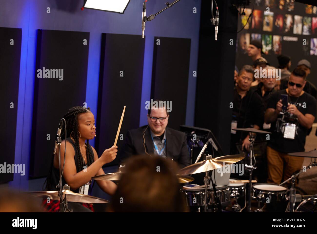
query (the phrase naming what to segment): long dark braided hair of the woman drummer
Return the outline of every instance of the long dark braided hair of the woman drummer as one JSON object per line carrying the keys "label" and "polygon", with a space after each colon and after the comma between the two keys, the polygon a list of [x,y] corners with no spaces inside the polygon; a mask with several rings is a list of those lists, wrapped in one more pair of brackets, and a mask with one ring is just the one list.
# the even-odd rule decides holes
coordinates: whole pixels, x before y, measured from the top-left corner
{"label": "long dark braided hair of the woman drummer", "polygon": [[[79,146],[79,132],[78,132],[78,114],[81,113],[86,113],[90,112],[90,108],[84,108],[82,106],[76,106],[72,107],[68,110],[68,112],[63,116],[63,118],[66,120],[66,127],[67,127],[67,136],[65,136],[65,127],[62,128],[61,131],[61,139],[64,140],[65,138],[68,138],[72,136],[74,139],[75,143],[75,155],[77,155],[77,160],[75,161],[76,164],[76,170],[77,172],[80,172],[84,169],[84,159],[81,156],[81,151],[80,151],[80,146]],[[72,134],[72,135],[71,135]],[[86,143],[86,157],[87,157],[87,166],[90,166],[94,162],[94,153],[91,150],[89,140],[87,139]],[[52,162],[51,164],[54,163],[54,154],[52,157]],[[49,189],[52,184],[51,184],[51,176],[52,176],[52,168],[53,166],[51,165],[49,174],[45,180],[46,186],[45,190]],[[45,185],[44,182],[44,185]],[[43,185],[43,187],[44,187]]]}

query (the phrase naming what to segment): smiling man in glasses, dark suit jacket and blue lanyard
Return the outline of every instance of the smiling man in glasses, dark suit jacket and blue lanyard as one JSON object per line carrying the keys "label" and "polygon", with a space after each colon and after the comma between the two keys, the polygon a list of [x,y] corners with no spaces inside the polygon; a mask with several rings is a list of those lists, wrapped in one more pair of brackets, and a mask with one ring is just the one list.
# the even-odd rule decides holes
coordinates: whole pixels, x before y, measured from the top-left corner
{"label": "smiling man in glasses, dark suit jacket and blue lanyard", "polygon": [[[169,112],[166,108],[150,109],[148,125],[129,130],[120,153],[120,162],[134,155],[160,156],[173,159],[181,168],[190,165],[186,135],[166,127]],[[121,164],[121,163],[120,163]]]}

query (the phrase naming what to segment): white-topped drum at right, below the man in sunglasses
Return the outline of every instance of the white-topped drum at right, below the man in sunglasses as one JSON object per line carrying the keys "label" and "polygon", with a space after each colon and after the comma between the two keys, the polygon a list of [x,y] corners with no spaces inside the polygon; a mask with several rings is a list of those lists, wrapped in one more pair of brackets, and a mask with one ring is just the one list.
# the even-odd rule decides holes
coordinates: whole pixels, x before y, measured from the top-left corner
{"label": "white-topped drum at right, below the man in sunglasses", "polygon": [[269,203],[285,201],[287,192],[287,188],[276,184],[262,183],[252,186],[252,197],[260,202],[266,202],[267,198]]}

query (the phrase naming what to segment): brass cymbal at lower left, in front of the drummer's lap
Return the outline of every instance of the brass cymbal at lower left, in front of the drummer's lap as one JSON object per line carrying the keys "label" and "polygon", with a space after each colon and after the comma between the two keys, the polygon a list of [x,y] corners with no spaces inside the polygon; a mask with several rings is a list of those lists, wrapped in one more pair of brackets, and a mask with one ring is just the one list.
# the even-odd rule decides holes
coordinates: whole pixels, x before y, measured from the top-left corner
{"label": "brass cymbal at lower left, in front of the drummer's lap", "polygon": [[[34,191],[34,192],[27,192],[32,197],[36,198],[50,198],[51,200],[59,200],[60,197],[57,191]],[[108,203],[108,200],[97,198],[90,195],[75,193],[70,190],[63,190],[63,199],[65,198],[69,202],[84,202],[84,203]]]}

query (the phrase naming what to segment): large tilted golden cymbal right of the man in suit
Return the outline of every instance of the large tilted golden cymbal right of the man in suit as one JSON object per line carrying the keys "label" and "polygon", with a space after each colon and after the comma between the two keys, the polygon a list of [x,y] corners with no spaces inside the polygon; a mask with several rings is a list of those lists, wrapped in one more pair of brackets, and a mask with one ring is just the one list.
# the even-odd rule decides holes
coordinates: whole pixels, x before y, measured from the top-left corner
{"label": "large tilted golden cymbal right of the man in suit", "polygon": [[178,174],[189,175],[189,174],[196,174],[200,172],[207,172],[207,171],[211,171],[211,170],[223,167],[223,163],[224,165],[234,164],[236,162],[241,161],[242,159],[244,159],[244,156],[241,156],[240,154],[226,155],[226,156],[221,156],[217,158],[211,158],[208,155],[206,160],[186,166],[183,169],[181,169],[178,172]]}

